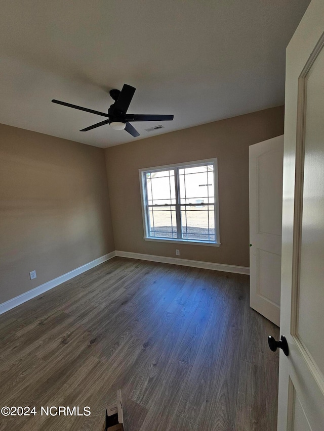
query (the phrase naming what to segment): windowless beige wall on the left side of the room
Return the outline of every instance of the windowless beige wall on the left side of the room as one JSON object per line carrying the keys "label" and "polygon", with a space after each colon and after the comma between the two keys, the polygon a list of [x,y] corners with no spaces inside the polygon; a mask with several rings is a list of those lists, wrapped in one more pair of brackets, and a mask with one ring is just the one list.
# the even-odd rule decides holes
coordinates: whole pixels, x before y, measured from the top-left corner
{"label": "windowless beige wall on the left side of the room", "polygon": [[103,149],[5,125],[0,139],[1,304],[115,247]]}

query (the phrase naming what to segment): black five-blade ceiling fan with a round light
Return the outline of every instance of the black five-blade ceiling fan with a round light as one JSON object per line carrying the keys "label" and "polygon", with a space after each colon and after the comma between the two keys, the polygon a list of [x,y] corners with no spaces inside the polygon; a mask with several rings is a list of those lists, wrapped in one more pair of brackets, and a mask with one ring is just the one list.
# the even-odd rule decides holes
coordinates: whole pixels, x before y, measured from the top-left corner
{"label": "black five-blade ceiling fan with a round light", "polygon": [[130,124],[130,121],[166,121],[173,120],[173,115],[154,115],[154,114],[126,114],[128,107],[133,99],[136,88],[131,85],[124,84],[120,90],[110,90],[109,94],[114,100],[114,103],[110,105],[108,114],[104,112],[94,111],[93,109],[83,108],[82,106],[72,105],[70,103],[61,102],[53,99],[53,103],[59,105],[68,106],[69,108],[79,109],[80,111],[90,112],[92,114],[101,115],[107,117],[107,120],[96,123],[93,126],[86,127],[80,130],[80,132],[87,132],[88,130],[95,129],[96,127],[109,124],[115,130],[125,129],[132,136],[140,136],[138,131]]}

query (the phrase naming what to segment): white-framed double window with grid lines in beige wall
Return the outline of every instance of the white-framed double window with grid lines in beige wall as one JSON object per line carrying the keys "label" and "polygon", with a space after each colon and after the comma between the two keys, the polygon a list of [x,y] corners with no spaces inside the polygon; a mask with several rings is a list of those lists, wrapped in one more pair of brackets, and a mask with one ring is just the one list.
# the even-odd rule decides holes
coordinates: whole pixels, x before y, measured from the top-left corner
{"label": "white-framed double window with grid lines in beige wall", "polygon": [[219,246],[217,159],[139,173],[145,240]]}

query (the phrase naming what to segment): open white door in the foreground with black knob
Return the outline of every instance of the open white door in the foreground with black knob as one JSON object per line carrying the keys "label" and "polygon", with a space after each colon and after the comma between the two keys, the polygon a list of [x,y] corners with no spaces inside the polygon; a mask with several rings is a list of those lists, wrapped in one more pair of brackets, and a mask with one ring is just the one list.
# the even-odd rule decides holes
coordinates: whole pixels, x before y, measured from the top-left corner
{"label": "open white door in the foreground with black knob", "polygon": [[324,429],[324,2],[287,48],[279,431]]}

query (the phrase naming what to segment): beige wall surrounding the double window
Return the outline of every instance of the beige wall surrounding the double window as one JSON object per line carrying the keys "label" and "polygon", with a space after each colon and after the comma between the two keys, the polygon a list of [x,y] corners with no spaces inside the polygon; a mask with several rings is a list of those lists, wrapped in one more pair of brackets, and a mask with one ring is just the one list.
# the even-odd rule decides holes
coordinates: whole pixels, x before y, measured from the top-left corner
{"label": "beige wall surrounding the double window", "polygon": [[[284,133],[284,107],[105,150],[116,250],[249,266],[249,146]],[[220,247],[143,240],[139,168],[218,158]]]}

